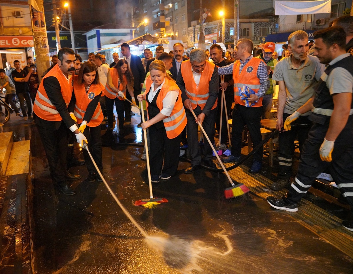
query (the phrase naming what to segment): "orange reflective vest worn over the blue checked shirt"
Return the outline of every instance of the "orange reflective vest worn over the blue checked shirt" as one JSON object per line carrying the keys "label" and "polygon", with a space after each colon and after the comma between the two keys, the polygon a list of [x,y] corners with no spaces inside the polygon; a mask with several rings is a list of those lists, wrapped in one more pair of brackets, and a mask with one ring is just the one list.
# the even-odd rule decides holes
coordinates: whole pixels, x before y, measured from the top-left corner
{"label": "orange reflective vest worn over the blue checked shirt", "polygon": [[[247,86],[251,88],[255,93],[261,87],[260,79],[257,77],[257,68],[259,64],[263,62],[261,59],[258,58],[251,58],[249,62],[246,63],[244,68],[241,70],[239,74],[240,62],[234,63],[233,67],[233,80],[234,80],[234,101],[236,104],[245,106],[245,102],[240,100],[239,96],[239,89],[243,88],[243,86]],[[259,98],[258,102],[253,105],[253,107],[261,107],[262,106],[262,97]]]}

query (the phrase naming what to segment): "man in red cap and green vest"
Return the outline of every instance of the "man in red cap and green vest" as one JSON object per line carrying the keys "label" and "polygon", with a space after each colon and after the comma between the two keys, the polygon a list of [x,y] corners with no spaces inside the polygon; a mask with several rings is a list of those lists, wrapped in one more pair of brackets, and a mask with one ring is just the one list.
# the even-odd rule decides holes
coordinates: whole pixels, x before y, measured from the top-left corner
{"label": "man in red cap and green vest", "polygon": [[273,53],[275,52],[275,44],[273,42],[267,42],[264,44],[262,53],[255,57],[259,58],[262,61],[265,62],[267,66],[267,73],[268,77],[270,79],[271,85],[268,91],[265,93],[265,95],[262,97],[262,106],[263,106],[263,111],[262,111],[262,119],[270,119],[272,118],[270,116],[271,114],[271,106],[272,106],[272,99],[273,99],[273,94],[274,91],[276,90],[276,81],[272,80],[272,74],[273,74],[273,69],[277,64],[277,60],[272,58]]}

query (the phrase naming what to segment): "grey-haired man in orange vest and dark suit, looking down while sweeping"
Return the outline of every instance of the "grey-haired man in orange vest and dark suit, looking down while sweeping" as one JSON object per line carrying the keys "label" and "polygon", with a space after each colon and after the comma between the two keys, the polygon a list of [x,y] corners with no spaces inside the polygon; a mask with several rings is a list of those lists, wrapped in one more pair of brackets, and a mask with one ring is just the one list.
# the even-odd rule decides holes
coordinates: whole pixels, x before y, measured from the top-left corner
{"label": "grey-haired man in orange vest and dark suit, looking down while sweeping", "polygon": [[[215,135],[219,92],[218,68],[206,59],[204,50],[193,49],[190,52],[190,60],[181,63],[177,77],[177,85],[181,90],[181,99],[186,111],[187,144],[191,156],[191,167],[184,170],[185,174],[193,173],[201,165],[197,123],[202,124],[211,142]],[[191,110],[195,112],[196,120]],[[212,148],[208,142],[204,142],[203,156],[205,166],[216,168],[211,160]]]}

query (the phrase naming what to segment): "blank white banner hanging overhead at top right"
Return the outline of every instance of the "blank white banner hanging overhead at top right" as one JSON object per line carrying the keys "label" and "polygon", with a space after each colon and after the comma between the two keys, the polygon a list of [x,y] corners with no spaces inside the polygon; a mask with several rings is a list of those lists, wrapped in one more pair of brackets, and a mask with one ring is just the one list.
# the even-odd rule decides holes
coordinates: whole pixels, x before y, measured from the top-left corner
{"label": "blank white banner hanging overhead at top right", "polygon": [[331,12],[331,0],[274,1],[275,15],[296,15]]}

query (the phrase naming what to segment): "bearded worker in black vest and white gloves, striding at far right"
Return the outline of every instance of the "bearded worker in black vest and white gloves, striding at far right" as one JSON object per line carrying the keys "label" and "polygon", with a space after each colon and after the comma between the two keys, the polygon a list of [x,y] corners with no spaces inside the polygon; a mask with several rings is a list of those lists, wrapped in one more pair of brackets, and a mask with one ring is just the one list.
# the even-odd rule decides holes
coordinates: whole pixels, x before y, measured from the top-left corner
{"label": "bearded worker in black vest and white gloves, striding at far right", "polygon": [[[299,115],[312,110],[309,119],[313,124],[289,192],[285,197],[269,196],[267,201],[279,210],[298,211],[297,204],[316,176],[329,168],[353,210],[353,56],[346,53],[345,32],[341,27],[316,31],[314,39],[314,55],[328,66],[315,88],[315,96],[297,110]],[[297,117],[289,116],[285,129],[290,130]],[[342,226],[353,231],[353,219],[343,221]]]}

